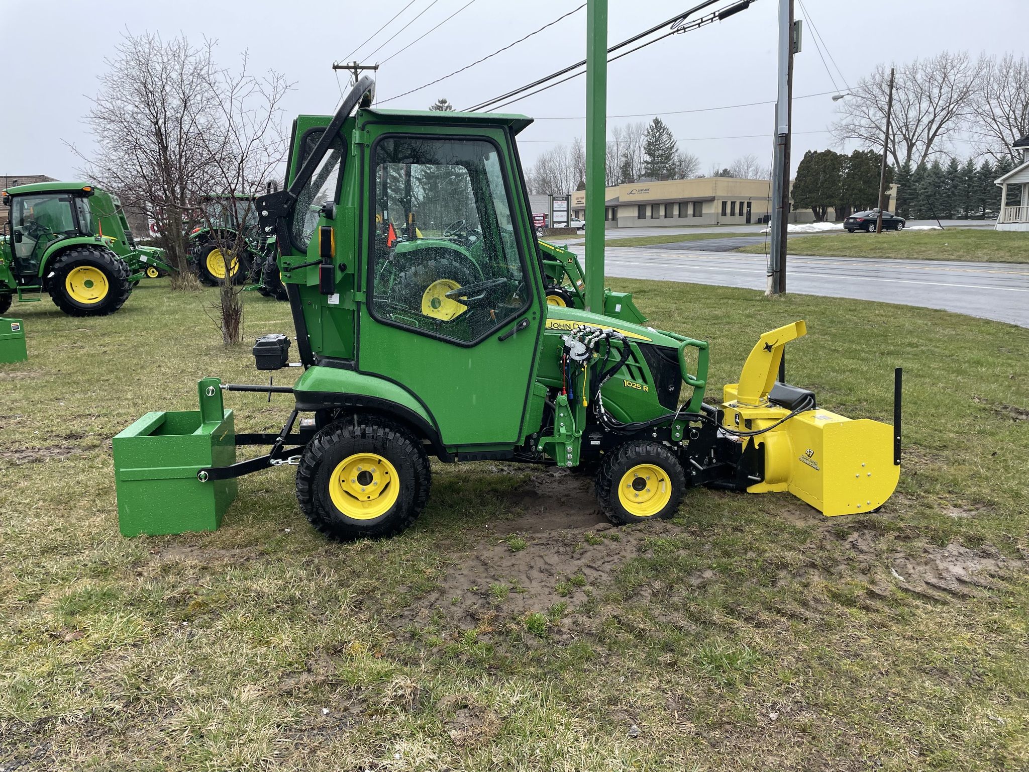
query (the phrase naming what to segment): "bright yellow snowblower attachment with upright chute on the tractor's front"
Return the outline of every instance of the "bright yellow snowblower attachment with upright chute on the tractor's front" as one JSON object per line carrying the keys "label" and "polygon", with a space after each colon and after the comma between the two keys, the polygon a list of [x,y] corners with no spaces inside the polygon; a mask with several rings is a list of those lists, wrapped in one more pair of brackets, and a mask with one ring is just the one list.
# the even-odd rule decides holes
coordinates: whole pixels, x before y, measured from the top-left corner
{"label": "bright yellow snowblower attachment with upright chute on the tractor's front", "polygon": [[893,426],[822,410],[813,392],[775,380],[783,348],[806,334],[796,321],[760,337],[740,382],[725,386],[722,425],[762,463],[764,481],[748,492],[789,491],[823,515],[872,512],[900,478],[900,372]]}

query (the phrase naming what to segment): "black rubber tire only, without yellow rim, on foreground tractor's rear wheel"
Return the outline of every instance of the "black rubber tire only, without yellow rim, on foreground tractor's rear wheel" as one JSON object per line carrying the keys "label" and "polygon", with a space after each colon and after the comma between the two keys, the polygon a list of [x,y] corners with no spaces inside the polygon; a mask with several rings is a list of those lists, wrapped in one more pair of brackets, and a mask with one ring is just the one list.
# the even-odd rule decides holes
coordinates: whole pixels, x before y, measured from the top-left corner
{"label": "black rubber tire only, without yellow rim, on foreground tractor's rear wheel", "polygon": [[[363,450],[369,451],[389,448],[407,458],[414,469],[415,484],[413,495],[402,511],[360,529],[333,520],[326,512],[316,489],[318,469],[326,452],[345,443],[365,445]],[[296,468],[296,500],[311,524],[329,538],[340,541],[378,538],[399,533],[415,522],[428,501],[431,482],[429,457],[421,442],[406,427],[382,416],[352,415],[323,428],[305,448]],[[404,502],[398,500],[397,503]]]}

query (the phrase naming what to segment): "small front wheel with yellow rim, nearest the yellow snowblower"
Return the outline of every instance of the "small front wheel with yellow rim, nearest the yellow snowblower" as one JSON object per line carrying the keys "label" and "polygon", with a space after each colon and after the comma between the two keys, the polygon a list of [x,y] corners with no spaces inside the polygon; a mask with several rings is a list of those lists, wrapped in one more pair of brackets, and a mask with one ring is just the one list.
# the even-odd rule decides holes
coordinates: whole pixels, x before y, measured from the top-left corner
{"label": "small front wheel with yellow rim, nearest the yellow snowblower", "polygon": [[675,515],[686,489],[679,459],[661,443],[633,441],[604,456],[597,498],[614,525]]}

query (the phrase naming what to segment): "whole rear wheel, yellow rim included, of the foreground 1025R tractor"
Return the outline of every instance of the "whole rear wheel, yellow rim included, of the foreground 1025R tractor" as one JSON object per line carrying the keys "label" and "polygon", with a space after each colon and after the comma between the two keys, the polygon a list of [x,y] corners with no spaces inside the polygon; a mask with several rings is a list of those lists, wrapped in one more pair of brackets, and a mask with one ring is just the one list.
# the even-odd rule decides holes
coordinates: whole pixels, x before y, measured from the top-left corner
{"label": "whole rear wheel, yellow rim included, of the foreground 1025R tractor", "polygon": [[296,500],[319,531],[340,541],[391,536],[429,498],[421,442],[378,416],[348,416],[319,431],[296,469]]}

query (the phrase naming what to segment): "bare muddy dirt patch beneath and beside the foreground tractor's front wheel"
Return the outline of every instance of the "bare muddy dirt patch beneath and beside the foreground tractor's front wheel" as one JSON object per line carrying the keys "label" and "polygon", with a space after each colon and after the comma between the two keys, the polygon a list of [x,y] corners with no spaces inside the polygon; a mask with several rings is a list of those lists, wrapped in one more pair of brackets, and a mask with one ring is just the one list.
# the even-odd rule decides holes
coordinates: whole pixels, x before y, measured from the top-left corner
{"label": "bare muddy dirt patch beneath and beside the foreground tractor's front wheel", "polygon": [[510,500],[522,512],[487,526],[439,589],[394,618],[396,627],[421,627],[441,613],[451,626],[489,632],[495,622],[557,603],[574,610],[647,538],[682,530],[660,520],[612,526],[595,503],[593,478],[566,471],[534,475]]}

